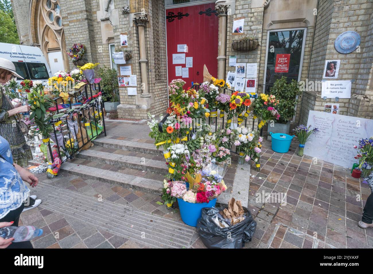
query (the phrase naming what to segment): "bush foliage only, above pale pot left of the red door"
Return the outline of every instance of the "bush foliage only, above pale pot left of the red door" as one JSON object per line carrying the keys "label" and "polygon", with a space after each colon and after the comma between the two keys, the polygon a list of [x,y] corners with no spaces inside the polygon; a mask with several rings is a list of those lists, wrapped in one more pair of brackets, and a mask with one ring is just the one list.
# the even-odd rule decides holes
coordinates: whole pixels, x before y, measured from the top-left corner
{"label": "bush foliage only, above pale pot left of the red door", "polygon": [[101,78],[101,90],[104,102],[117,102],[116,90],[119,89],[117,71],[104,66],[98,69],[98,76]]}

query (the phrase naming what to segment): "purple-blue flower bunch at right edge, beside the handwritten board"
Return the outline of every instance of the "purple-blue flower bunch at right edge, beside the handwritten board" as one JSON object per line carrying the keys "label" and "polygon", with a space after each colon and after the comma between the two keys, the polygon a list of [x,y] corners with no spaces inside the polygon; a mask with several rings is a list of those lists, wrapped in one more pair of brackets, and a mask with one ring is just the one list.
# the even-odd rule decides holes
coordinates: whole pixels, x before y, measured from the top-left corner
{"label": "purple-blue flower bunch at right edge, beside the handwritten board", "polygon": [[373,137],[359,140],[358,146],[355,145],[354,149],[358,149],[359,151],[354,158],[359,159],[358,169],[361,170],[361,177],[366,178],[372,172]]}

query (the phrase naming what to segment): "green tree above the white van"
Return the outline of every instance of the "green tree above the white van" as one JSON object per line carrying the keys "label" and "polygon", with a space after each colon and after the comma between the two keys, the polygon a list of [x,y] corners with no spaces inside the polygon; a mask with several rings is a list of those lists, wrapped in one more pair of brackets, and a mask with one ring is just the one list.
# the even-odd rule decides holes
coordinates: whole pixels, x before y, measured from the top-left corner
{"label": "green tree above the white van", "polygon": [[9,0],[0,0],[0,42],[19,44],[16,22]]}

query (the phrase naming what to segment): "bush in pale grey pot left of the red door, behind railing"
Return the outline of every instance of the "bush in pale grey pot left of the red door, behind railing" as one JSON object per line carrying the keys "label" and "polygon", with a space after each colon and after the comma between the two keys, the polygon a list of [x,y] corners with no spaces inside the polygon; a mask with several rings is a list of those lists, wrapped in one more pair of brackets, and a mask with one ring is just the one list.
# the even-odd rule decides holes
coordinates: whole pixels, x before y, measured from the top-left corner
{"label": "bush in pale grey pot left of the red door, behind railing", "polygon": [[120,104],[117,96],[118,73],[115,69],[102,67],[98,70],[98,75],[101,78],[102,98],[106,112],[116,111],[117,106]]}

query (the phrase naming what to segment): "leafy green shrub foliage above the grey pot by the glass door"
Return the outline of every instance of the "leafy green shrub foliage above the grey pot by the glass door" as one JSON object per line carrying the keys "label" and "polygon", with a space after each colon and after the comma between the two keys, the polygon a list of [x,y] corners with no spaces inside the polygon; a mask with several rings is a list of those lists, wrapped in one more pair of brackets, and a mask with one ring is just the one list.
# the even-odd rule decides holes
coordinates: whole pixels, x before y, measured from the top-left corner
{"label": "leafy green shrub foliage above the grey pot by the glass door", "polygon": [[294,79],[290,83],[287,78],[282,76],[277,79],[270,89],[270,94],[275,95],[279,100],[276,110],[280,114],[278,120],[281,124],[286,124],[295,114],[295,106],[297,105],[297,96],[301,95],[300,84]]}

